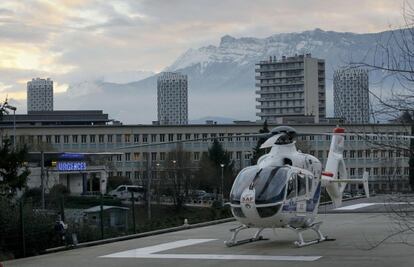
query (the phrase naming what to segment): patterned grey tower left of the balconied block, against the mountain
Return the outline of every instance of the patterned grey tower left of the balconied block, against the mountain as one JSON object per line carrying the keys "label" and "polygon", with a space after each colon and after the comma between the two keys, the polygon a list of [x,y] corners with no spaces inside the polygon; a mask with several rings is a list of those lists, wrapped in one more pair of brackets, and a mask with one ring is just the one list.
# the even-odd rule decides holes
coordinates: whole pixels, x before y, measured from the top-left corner
{"label": "patterned grey tower left of the balconied block, against the mountain", "polygon": [[188,124],[187,75],[163,72],[157,80],[158,123]]}

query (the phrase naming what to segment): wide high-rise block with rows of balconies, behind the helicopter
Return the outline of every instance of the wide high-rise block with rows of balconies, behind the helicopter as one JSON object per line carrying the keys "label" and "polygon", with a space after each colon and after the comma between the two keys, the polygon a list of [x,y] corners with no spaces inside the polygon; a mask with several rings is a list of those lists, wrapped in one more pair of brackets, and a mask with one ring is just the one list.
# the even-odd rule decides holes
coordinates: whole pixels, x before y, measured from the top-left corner
{"label": "wide high-rise block with rows of balconies, behind the helicopter", "polygon": [[310,54],[270,57],[256,64],[256,115],[261,121],[285,123],[325,118],[325,61]]}

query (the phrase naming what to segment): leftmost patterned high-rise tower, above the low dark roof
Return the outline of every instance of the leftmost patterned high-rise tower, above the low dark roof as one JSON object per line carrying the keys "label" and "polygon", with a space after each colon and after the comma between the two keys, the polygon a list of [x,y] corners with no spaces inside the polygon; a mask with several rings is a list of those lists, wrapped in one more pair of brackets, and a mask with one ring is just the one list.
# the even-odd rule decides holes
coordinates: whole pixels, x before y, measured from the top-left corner
{"label": "leftmost patterned high-rise tower, above the low dark roof", "polygon": [[53,110],[53,81],[47,79],[32,79],[27,82],[27,111]]}

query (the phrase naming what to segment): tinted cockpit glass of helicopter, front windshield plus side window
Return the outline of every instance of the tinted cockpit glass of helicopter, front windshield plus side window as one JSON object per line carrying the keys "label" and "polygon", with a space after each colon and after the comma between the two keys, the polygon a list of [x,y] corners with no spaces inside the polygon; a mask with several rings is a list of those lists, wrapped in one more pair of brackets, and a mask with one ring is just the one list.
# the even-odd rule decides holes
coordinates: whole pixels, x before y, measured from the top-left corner
{"label": "tinted cockpit glass of helicopter, front windshield plus side window", "polygon": [[283,201],[285,186],[290,167],[247,168],[240,172],[234,181],[230,201],[240,204],[243,191],[253,186],[256,192],[256,204],[268,204]]}

